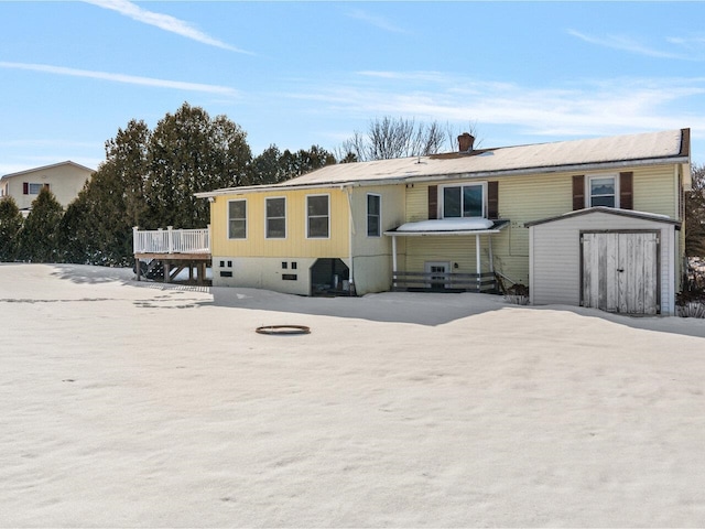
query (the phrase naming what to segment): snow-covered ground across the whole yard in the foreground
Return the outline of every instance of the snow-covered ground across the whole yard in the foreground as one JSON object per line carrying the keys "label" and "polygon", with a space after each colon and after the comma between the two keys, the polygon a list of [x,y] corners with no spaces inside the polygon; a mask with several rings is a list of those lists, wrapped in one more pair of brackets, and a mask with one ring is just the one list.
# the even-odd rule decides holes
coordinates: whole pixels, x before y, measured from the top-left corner
{"label": "snow-covered ground across the whole yard in the foreground", "polygon": [[0,264],[0,326],[1,527],[705,525],[703,320]]}

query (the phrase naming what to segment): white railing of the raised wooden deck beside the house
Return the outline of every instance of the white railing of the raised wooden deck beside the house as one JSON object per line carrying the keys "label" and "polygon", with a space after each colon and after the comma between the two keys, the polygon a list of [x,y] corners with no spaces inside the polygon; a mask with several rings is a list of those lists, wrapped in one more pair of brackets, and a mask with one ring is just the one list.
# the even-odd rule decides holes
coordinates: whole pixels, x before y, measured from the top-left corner
{"label": "white railing of the raised wooden deck beside the house", "polygon": [[210,253],[210,226],[206,229],[140,230],[132,228],[134,253]]}

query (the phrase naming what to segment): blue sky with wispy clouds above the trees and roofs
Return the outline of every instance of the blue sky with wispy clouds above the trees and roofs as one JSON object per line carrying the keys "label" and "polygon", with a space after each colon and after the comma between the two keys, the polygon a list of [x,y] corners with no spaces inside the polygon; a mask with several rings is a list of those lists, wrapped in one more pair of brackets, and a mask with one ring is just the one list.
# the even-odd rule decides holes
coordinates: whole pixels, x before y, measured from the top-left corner
{"label": "blue sky with wispy clouds above the trees and roofs", "polygon": [[705,3],[0,0],[0,174],[97,168],[184,101],[253,154],[334,150],[370,120],[481,147],[690,127],[705,162]]}

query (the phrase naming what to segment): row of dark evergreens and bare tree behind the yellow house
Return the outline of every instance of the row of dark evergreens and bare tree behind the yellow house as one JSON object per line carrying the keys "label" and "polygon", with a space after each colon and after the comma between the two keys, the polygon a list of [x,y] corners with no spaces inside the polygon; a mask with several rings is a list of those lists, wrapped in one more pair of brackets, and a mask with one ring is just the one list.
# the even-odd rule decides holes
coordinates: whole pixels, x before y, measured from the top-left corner
{"label": "row of dark evergreens and bare tree behind the yellow house", "polygon": [[332,163],[432,154],[443,141],[433,123],[383,118],[356,132],[338,156],[318,145],[283,152],[274,144],[252,156],[246,132],[225,116],[185,102],[153,130],[131,120],[105,144],[106,160],[64,210],[42,190],[23,218],[0,201],[0,261],[129,266],[132,227],[202,228],[209,206],[194,193],[273,184]]}

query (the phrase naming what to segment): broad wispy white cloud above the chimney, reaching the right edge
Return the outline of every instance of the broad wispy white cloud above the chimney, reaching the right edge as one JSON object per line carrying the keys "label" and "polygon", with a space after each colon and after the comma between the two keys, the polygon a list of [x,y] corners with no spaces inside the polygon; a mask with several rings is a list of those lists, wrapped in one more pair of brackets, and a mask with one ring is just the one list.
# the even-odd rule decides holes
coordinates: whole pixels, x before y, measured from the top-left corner
{"label": "broad wispy white cloud above the chimney, reaching the right edge", "polygon": [[[384,72],[372,76],[365,72],[364,82],[345,79],[306,86],[289,97],[318,101],[319,111],[349,119],[391,115],[459,125],[476,122],[480,130],[482,126],[500,126],[524,136],[610,136],[683,127],[705,131],[705,114],[690,104],[705,95],[705,78],[585,79],[540,89],[438,75],[434,86],[410,91],[404,79],[417,75]],[[370,77],[380,82],[370,85]]]}

